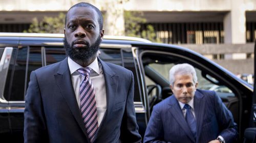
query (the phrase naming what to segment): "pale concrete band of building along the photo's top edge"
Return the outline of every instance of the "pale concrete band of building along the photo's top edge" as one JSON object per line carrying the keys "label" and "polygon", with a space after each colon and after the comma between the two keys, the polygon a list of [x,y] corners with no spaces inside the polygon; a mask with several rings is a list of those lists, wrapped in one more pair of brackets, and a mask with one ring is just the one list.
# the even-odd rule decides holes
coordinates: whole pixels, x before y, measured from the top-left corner
{"label": "pale concrete band of building along the photo's top edge", "polygon": [[[122,2],[125,10],[132,11],[229,11],[234,0],[106,0]],[[235,0],[237,1],[237,0]],[[239,0],[241,7],[256,10],[254,0]],[[104,10],[102,0],[0,0],[0,11],[67,11],[72,5],[88,2]]]}

